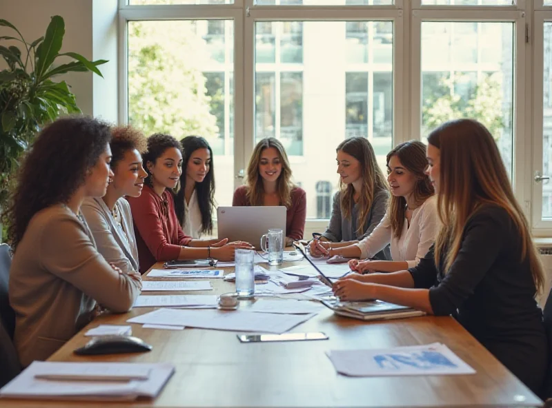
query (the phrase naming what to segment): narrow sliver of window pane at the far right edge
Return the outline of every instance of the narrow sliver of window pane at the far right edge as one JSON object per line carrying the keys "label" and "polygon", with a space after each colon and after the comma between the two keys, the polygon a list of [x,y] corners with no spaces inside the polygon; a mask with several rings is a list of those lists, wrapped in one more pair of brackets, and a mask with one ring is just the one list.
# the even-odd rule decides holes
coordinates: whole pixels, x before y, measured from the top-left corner
{"label": "narrow sliver of window pane at the far right edge", "polygon": [[[551,176],[552,169],[552,21],[544,22],[544,81],[542,83],[542,174]],[[552,218],[552,183],[542,181],[542,218]]]}

